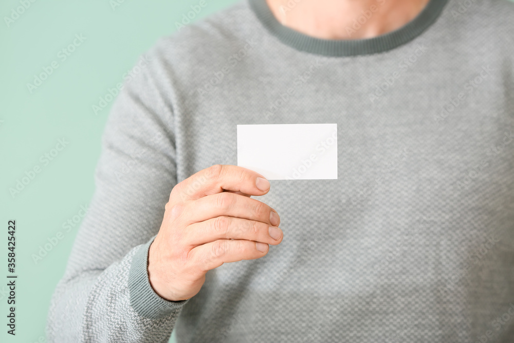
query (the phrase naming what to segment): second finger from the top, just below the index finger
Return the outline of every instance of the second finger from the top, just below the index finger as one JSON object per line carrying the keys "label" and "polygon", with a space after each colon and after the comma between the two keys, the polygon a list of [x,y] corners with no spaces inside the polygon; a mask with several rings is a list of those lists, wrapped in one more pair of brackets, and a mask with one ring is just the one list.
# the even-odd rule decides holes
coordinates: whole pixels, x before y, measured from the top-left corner
{"label": "second finger from the top, just below the index finger", "polygon": [[239,194],[223,192],[204,196],[196,201],[186,203],[188,212],[186,225],[216,218],[221,215],[254,220],[272,226],[279,226],[277,211],[265,203]]}

